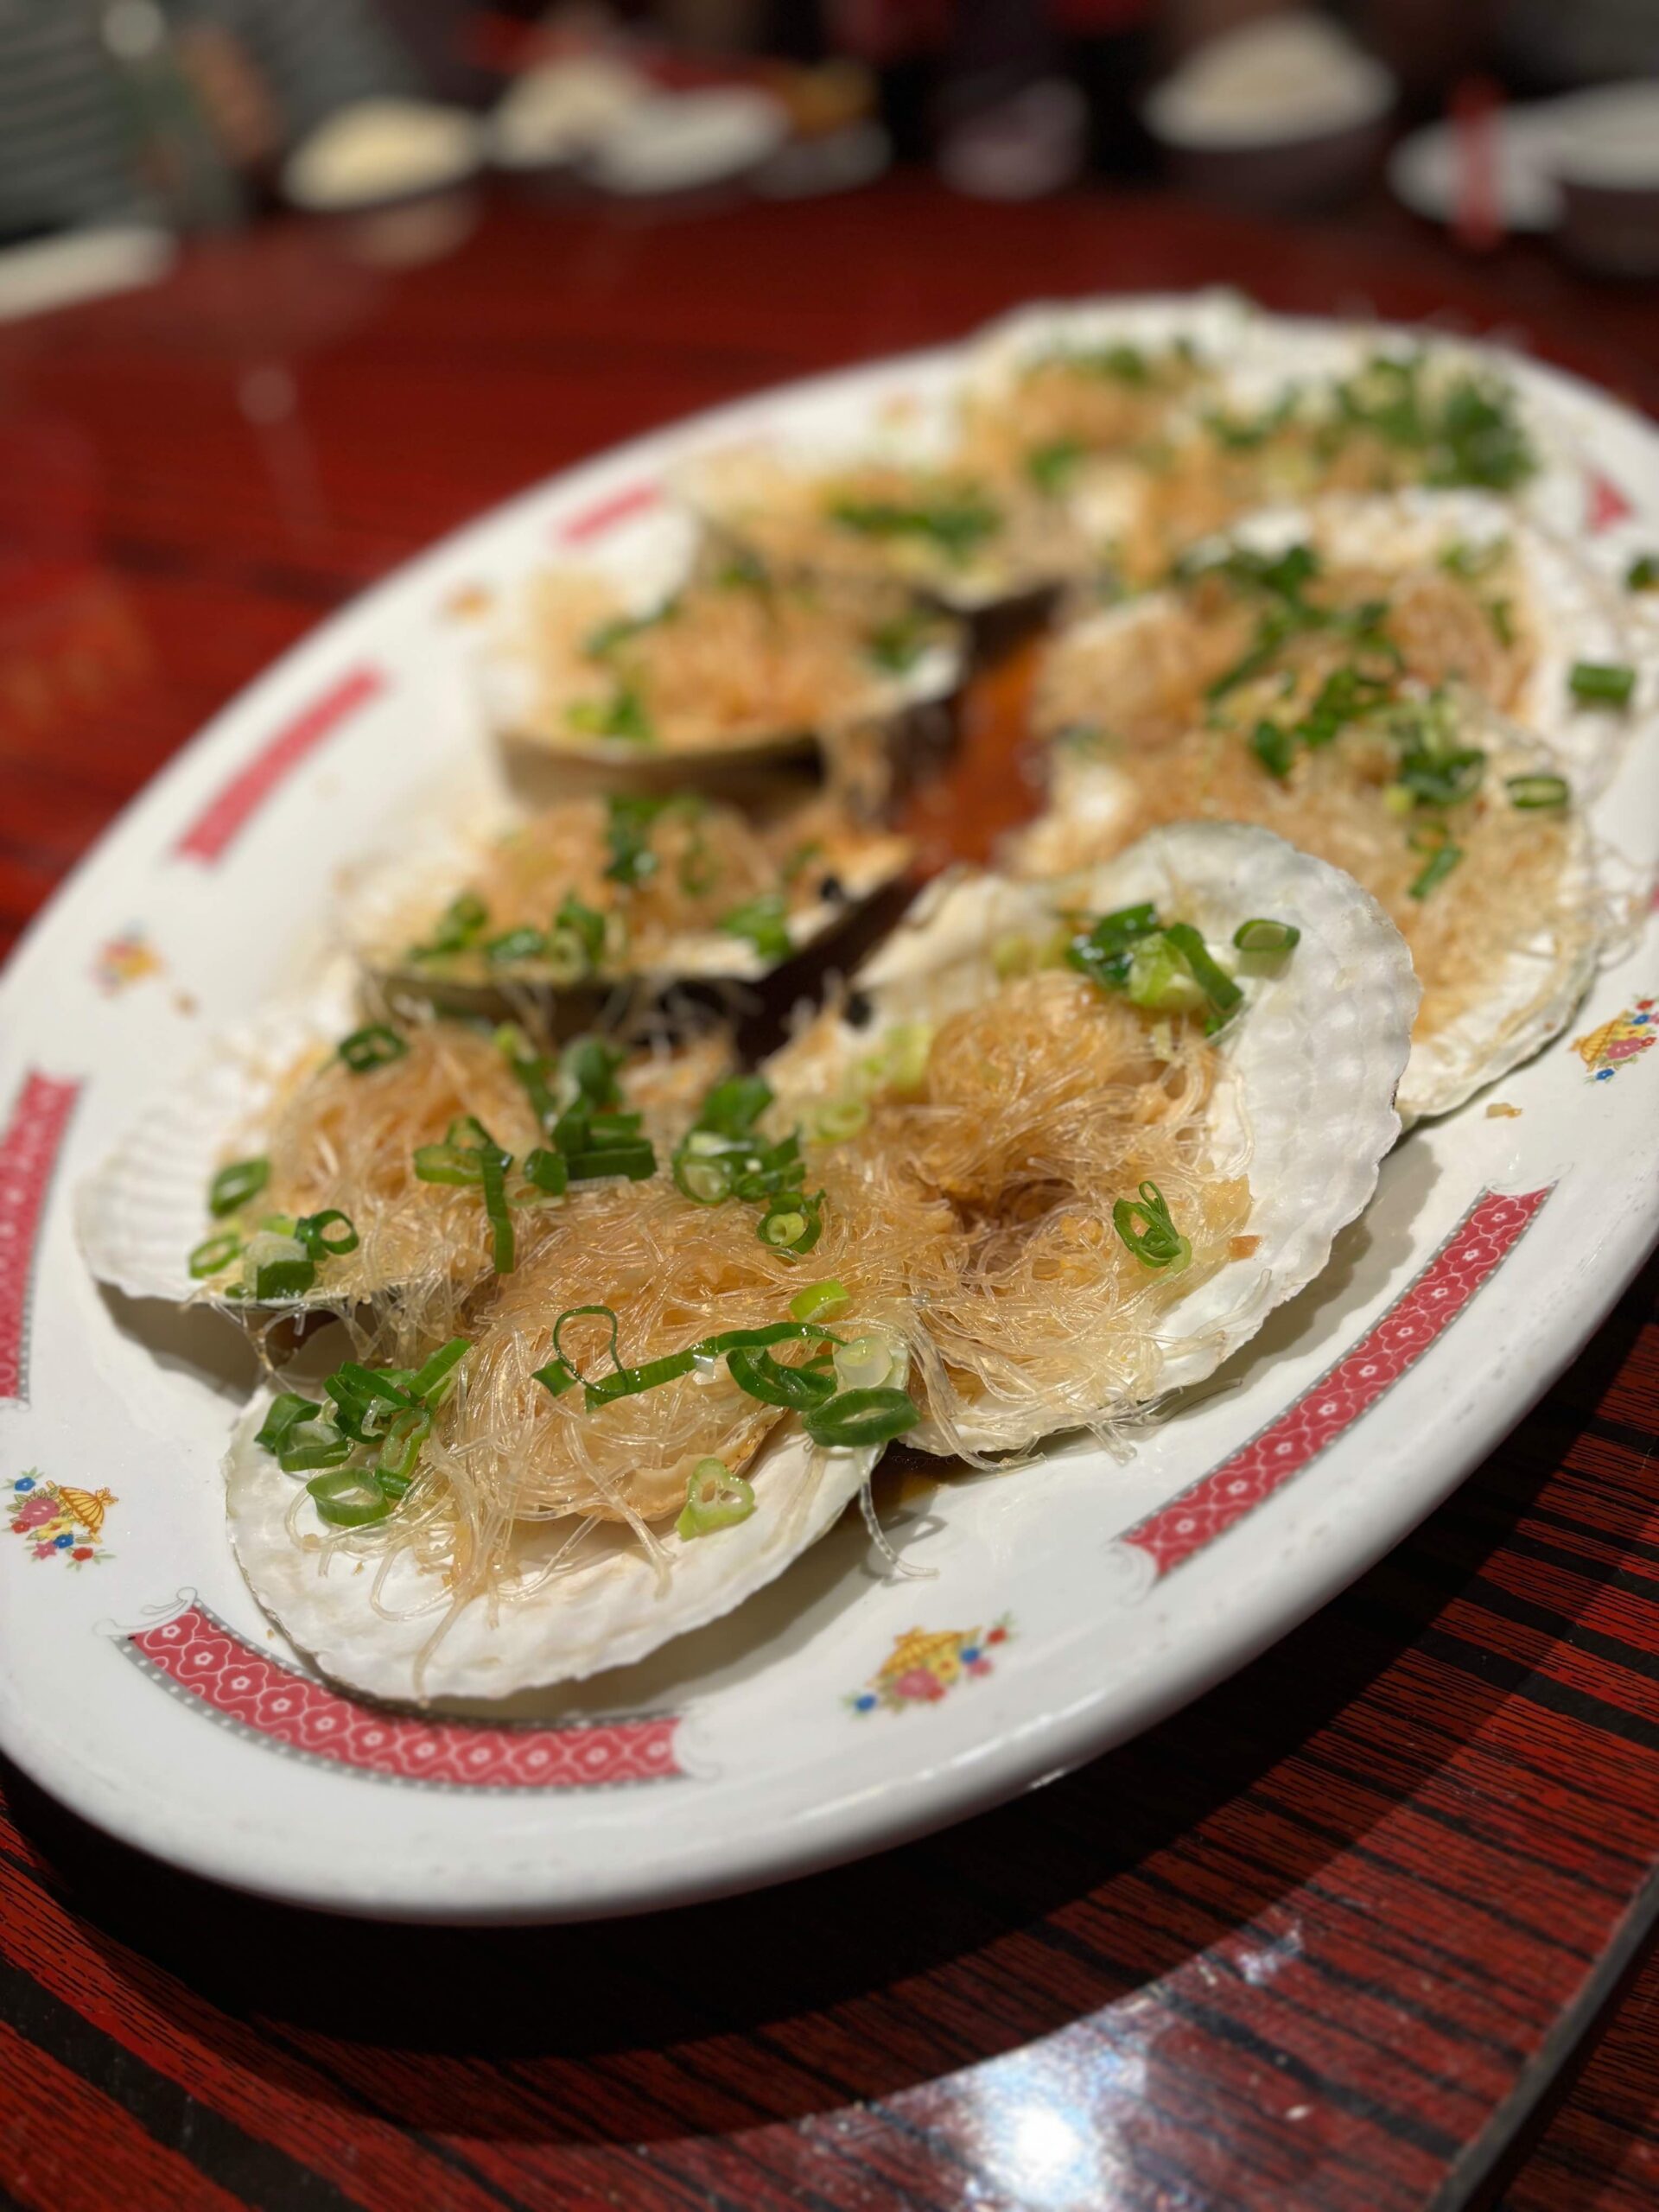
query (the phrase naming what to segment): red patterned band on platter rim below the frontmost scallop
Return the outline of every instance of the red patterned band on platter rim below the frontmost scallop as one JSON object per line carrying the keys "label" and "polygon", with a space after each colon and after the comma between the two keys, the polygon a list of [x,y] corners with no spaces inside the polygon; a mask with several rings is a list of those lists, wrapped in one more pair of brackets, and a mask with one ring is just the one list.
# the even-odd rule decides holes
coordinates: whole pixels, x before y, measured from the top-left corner
{"label": "red patterned band on platter rim below the frontmost scallop", "polygon": [[684,1776],[677,1712],[562,1728],[431,1721],[365,1705],[301,1674],[228,1628],[192,1599],[122,1650],[175,1697],[221,1728],[307,1765],[345,1767],[383,1783],[427,1790],[595,1790]]}

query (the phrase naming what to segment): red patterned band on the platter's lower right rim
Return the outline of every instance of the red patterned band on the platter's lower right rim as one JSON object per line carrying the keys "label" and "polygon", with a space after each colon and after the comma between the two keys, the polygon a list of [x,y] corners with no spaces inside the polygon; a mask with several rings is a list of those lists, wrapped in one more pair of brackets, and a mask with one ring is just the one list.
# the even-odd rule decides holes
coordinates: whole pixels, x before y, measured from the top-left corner
{"label": "red patterned band on the platter's lower right rim", "polygon": [[1119,1537],[1144,1551],[1155,1575],[1201,1553],[1234,1522],[1283,1489],[1310,1460],[1352,1429],[1469,1305],[1509,1259],[1555,1186],[1504,1197],[1484,1190],[1429,1265],[1387,1314],[1283,1413],[1221,1467]]}

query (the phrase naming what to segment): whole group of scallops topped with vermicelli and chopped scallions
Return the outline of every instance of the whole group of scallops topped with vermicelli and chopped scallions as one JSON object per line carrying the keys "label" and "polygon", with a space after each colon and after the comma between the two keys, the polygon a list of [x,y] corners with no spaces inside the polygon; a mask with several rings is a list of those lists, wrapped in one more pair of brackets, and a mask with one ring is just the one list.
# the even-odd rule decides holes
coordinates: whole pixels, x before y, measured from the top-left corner
{"label": "whole group of scallops topped with vermicelli and chopped scallions", "polygon": [[1590,807],[1659,560],[1562,526],[1571,438],[1489,356],[1208,296],[898,374],[526,564],[473,781],[363,825],[325,953],[80,1190],[102,1283],[254,1345],[230,1544],[363,1694],[695,1677],[849,1506],[925,1573],[889,1447],[1082,1473],[1093,1571],[1148,1427],[1146,1486],[1212,1464],[1194,1387],[1343,1290],[1402,1128],[1630,909]]}

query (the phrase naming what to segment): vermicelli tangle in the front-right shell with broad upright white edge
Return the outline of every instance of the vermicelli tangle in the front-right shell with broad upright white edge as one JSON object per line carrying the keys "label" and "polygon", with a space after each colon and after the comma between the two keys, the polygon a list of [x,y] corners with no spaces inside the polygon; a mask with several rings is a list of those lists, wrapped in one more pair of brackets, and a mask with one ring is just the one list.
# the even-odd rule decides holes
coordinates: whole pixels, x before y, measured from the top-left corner
{"label": "vermicelli tangle in the front-right shell with broad upright white edge", "polygon": [[[799,1066],[812,1066],[812,1035]],[[1230,1256],[1250,1190],[1219,1161],[1214,1048],[1071,973],[1004,982],[933,1035],[911,1093],[876,1093],[849,1141],[812,1150],[832,1217],[856,1223],[838,1274],[900,1325],[945,1438],[1024,1444],[1108,1427],[1157,1389],[1179,1298]],[[1146,1270],[1113,1203],[1157,1183],[1192,1241]]]}

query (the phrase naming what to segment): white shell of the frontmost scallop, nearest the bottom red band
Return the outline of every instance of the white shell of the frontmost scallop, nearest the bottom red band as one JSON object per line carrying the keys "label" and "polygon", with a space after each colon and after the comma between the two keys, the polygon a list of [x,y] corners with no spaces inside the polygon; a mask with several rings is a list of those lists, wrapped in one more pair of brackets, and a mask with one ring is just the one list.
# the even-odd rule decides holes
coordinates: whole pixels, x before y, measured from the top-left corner
{"label": "white shell of the frontmost scallop, nearest the bottom red band", "polygon": [[[299,1478],[254,1444],[268,1405],[270,1394],[261,1391],[237,1422],[226,1458],[230,1542],[241,1571],[265,1613],[325,1674],[398,1701],[509,1697],[644,1659],[781,1575],[836,1522],[880,1458],[880,1449],[818,1451],[787,1418],[750,1469],[748,1520],[692,1540],[672,1528],[659,1533],[666,1579],[630,1531],[593,1528],[557,1579],[535,1595],[498,1606],[493,1617],[487,1597],[465,1606],[420,1668],[447,1606],[442,1577],[398,1559],[380,1601],[407,1617],[387,1619],[369,1604],[376,1562],[327,1555],[316,1542],[327,1531],[310,1504],[296,1515],[296,1542],[288,1513]],[[571,1522],[522,1524],[515,1566],[535,1573],[568,1535]]]}

